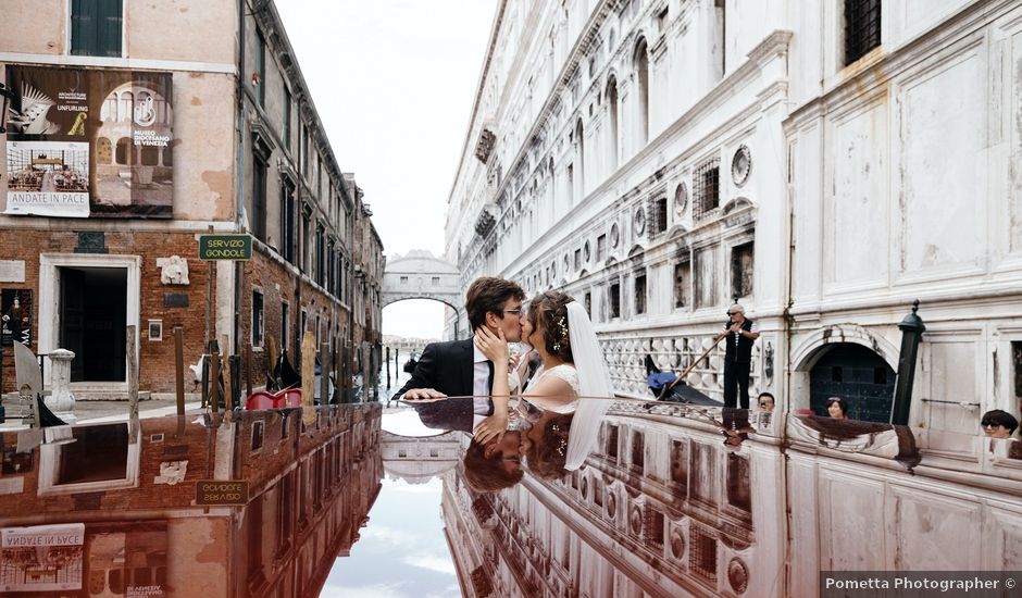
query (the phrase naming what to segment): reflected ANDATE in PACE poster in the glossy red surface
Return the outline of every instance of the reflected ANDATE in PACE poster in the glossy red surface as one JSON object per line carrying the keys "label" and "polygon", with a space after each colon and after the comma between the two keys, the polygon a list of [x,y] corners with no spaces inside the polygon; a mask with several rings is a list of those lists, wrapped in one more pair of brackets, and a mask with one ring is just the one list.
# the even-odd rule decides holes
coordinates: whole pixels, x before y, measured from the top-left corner
{"label": "reflected ANDATE in PACE poster in the glossy red surface", "polygon": [[85,524],[0,530],[0,593],[82,589]]}

